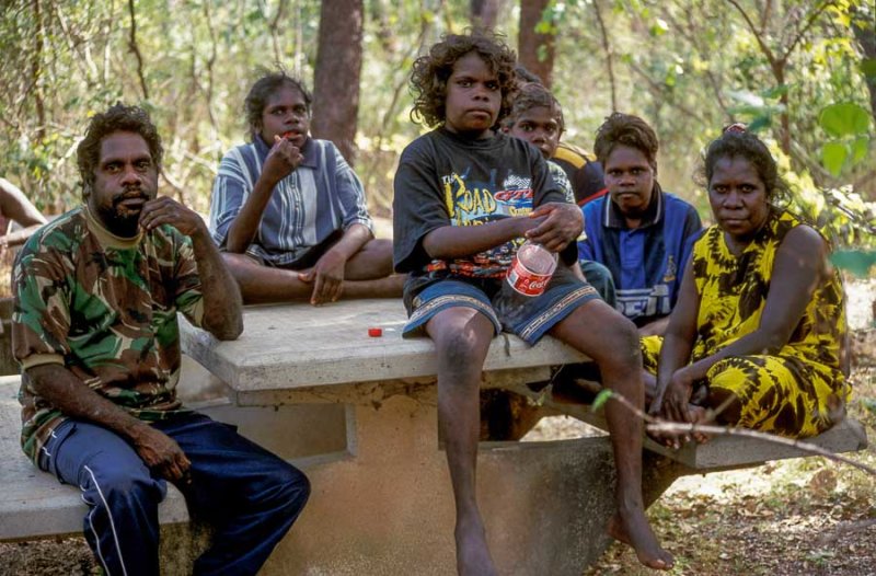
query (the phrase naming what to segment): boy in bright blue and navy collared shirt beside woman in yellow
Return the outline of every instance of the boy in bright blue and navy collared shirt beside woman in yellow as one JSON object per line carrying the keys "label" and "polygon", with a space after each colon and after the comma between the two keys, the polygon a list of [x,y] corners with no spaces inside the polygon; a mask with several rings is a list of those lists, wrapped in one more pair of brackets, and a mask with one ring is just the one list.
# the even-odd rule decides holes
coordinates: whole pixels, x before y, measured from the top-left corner
{"label": "boy in bright blue and navy collared shirt beside woman in yellow", "polygon": [[657,183],[657,135],[645,120],[614,113],[597,131],[609,194],[587,204],[578,257],[611,270],[615,308],[639,333],[662,335],[693,240],[696,209]]}

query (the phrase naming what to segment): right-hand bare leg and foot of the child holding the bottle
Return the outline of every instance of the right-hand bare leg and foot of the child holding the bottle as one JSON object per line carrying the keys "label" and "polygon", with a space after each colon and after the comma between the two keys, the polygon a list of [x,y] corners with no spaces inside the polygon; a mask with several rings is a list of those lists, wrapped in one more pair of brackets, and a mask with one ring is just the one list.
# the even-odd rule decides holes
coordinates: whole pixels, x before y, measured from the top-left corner
{"label": "right-hand bare leg and foot of the child holding the bottle", "polygon": [[[551,334],[596,360],[603,385],[643,408],[642,357],[632,322],[601,300],[590,300],[554,326]],[[618,470],[618,511],[609,522],[609,534],[633,546],[642,564],[671,568],[672,555],[657,541],[642,499],[643,423],[613,401],[606,405],[606,417]]]}

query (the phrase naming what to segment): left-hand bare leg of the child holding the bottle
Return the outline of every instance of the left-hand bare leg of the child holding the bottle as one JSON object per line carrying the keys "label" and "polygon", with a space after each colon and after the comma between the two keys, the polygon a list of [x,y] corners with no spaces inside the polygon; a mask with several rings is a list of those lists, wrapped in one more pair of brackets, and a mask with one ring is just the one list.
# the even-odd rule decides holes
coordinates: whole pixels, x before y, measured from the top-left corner
{"label": "left-hand bare leg of the child holding the bottle", "polygon": [[493,324],[471,308],[450,308],[426,324],[438,359],[438,425],[457,508],[457,572],[493,576],[496,568],[477,508],[475,469],[481,433],[481,372]]}

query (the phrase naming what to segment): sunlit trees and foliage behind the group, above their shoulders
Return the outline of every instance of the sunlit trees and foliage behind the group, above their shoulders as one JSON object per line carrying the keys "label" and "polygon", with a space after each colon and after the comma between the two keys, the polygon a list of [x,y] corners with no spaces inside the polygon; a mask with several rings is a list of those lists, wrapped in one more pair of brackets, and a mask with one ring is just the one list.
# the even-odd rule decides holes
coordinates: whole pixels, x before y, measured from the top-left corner
{"label": "sunlit trees and foliage behind the group, above their shoulders", "polygon": [[[874,243],[876,8],[869,0],[5,0],[0,175],[47,214],[80,200],[90,115],[146,106],[162,192],[206,212],[222,154],[247,137],[260,70],[313,88],[312,134],[335,141],[390,217],[411,122],[411,64],[440,36],[495,27],[564,107],[585,149],[612,111],[660,137],[659,180],[708,218],[702,147],[749,123],[782,158],[798,208],[840,246]],[[324,25],[321,25],[324,24]]]}

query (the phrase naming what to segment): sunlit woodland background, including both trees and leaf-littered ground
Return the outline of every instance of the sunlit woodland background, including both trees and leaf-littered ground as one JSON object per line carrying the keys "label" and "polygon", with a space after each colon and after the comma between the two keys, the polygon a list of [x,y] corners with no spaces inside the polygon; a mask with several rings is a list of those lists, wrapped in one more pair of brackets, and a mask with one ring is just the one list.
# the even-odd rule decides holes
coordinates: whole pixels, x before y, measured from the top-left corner
{"label": "sunlit woodland background, including both trees and leaf-littered ground", "polygon": [[[88,118],[120,100],[159,125],[161,192],[206,212],[219,160],[246,139],[250,85],[283,68],[313,88],[312,134],[337,143],[390,218],[399,154],[426,130],[410,117],[411,65],[473,24],[503,32],[552,88],[566,141],[590,149],[612,111],[643,116],[664,188],[708,220],[698,158],[723,126],[748,123],[842,265],[863,275],[876,260],[874,0],[0,0],[0,176],[46,214],[74,207]],[[873,440],[876,280],[851,296],[850,414]],[[820,458],[736,474],[679,483],[649,510],[673,574],[873,574],[876,479]],[[97,573],[81,538],[0,556],[3,575]],[[588,574],[635,565],[615,546]]]}

